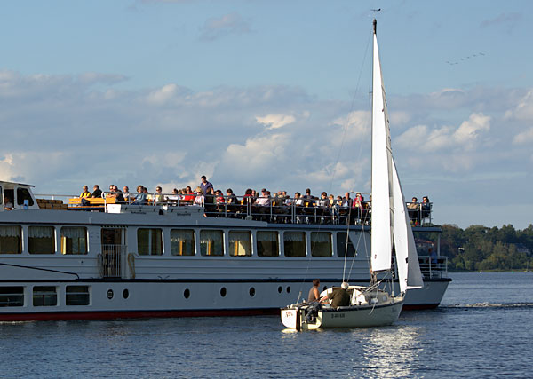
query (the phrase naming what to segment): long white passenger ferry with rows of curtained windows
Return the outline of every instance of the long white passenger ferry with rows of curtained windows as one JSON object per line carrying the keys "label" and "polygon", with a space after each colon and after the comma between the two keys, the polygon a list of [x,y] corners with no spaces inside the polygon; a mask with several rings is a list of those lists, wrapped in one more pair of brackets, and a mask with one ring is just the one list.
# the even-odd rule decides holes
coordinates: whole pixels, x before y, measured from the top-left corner
{"label": "long white passenger ferry with rows of curtained windows", "polygon": [[[0,181],[0,321],[278,314],[315,278],[368,284],[369,211],[82,201]],[[437,307],[450,281],[438,243],[418,259],[424,288],[404,309]]]}

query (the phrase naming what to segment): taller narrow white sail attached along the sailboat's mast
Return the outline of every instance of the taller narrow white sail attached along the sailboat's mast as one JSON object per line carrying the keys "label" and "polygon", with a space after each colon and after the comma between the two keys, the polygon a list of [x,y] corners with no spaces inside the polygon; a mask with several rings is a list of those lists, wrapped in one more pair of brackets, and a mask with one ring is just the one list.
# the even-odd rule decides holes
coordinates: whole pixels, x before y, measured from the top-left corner
{"label": "taller narrow white sail attached along the sailboat's mast", "polygon": [[385,86],[379,63],[374,20],[374,66],[372,79],[372,271],[391,268],[393,249],[392,154],[386,112]]}

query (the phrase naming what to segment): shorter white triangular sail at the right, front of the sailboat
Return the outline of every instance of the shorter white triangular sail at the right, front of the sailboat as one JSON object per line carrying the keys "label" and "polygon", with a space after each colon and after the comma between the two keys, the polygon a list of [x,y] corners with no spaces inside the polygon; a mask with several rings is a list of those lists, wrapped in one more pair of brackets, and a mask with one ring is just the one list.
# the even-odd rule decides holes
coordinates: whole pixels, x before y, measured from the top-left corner
{"label": "shorter white triangular sail at the right, front of the sailboat", "polygon": [[393,158],[393,193],[394,193],[394,251],[396,253],[396,268],[400,281],[400,292],[407,289],[422,288],[424,281],[418,265],[417,246],[410,227],[409,213],[403,197],[402,185],[396,163]]}

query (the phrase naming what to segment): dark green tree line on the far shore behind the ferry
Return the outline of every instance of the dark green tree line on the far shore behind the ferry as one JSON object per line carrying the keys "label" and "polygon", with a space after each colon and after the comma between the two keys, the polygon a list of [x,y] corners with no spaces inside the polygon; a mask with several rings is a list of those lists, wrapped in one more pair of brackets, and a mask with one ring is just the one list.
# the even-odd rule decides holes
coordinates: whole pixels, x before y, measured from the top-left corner
{"label": "dark green tree line on the far shore behind the ferry", "polygon": [[[513,225],[487,227],[442,225],[441,255],[449,257],[449,271],[533,270],[533,224],[523,230]],[[435,233],[416,233],[417,238],[437,243]],[[527,252],[519,251],[523,248]]]}

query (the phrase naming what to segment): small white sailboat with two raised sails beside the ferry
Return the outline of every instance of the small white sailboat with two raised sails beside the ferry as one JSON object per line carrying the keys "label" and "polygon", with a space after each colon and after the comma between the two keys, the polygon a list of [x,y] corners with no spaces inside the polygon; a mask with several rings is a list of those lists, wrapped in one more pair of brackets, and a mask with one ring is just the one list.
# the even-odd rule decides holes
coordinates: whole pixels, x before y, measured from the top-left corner
{"label": "small white sailboat with two raised sails beside the ferry", "polygon": [[[321,299],[333,291],[346,290],[350,303],[300,303],[281,310],[286,328],[366,328],[393,324],[402,311],[405,293],[424,286],[418,266],[415,239],[391,149],[386,93],[378,52],[377,21],[373,21],[372,74],[372,212],[371,279],[368,287],[328,288]],[[386,291],[383,283],[394,272],[395,252],[400,294]],[[343,283],[344,284],[344,283]],[[392,288],[392,286],[391,286]],[[322,297],[323,296],[323,297]]]}

